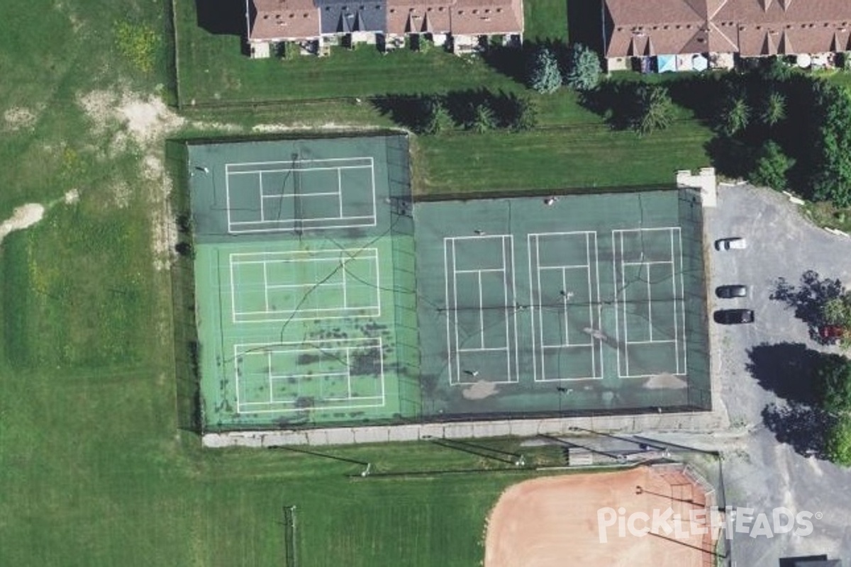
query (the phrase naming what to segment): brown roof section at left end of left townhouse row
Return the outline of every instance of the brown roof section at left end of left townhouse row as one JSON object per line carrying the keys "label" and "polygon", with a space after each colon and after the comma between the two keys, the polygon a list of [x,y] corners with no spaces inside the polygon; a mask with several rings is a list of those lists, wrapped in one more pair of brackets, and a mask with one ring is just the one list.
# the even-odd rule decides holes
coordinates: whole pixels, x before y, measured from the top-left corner
{"label": "brown roof section at left end of left townhouse row", "polygon": [[319,37],[319,10],[313,0],[254,0],[249,40]]}

